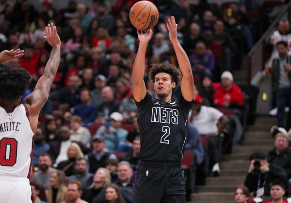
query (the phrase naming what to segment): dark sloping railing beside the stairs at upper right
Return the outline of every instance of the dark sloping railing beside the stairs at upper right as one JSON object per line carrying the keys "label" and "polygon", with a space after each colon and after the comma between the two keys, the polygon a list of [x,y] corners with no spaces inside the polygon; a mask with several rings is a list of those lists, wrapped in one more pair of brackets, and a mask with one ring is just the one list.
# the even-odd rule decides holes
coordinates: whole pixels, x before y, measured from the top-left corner
{"label": "dark sloping railing beside the stairs at upper right", "polygon": [[[250,83],[256,73],[264,69],[266,61],[270,58],[271,52],[265,51],[265,45],[269,42],[270,36],[275,31],[278,22],[281,19],[288,19],[290,22],[291,2],[282,7],[282,11],[278,14],[275,21],[261,36],[252,50],[247,55],[247,81]],[[263,19],[262,19],[263,20]]]}

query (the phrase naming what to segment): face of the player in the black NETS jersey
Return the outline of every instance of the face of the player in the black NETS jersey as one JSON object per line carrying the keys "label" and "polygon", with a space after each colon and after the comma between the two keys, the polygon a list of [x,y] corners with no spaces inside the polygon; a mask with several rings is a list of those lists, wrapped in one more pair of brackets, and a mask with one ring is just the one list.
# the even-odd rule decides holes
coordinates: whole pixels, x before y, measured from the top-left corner
{"label": "face of the player in the black NETS jersey", "polygon": [[171,75],[168,73],[156,74],[154,88],[158,98],[165,98],[172,93],[172,89],[176,87],[176,83],[172,83],[171,79]]}

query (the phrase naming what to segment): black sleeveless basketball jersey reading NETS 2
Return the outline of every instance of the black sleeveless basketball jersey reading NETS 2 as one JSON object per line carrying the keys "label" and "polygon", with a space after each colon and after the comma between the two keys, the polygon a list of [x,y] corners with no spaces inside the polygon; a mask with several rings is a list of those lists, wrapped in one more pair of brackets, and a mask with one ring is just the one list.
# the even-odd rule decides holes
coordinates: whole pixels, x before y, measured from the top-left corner
{"label": "black sleeveless basketball jersey reading NETS 2", "polygon": [[192,102],[179,93],[168,103],[154,99],[148,92],[136,102],[141,136],[139,159],[180,161],[185,151],[188,114]]}

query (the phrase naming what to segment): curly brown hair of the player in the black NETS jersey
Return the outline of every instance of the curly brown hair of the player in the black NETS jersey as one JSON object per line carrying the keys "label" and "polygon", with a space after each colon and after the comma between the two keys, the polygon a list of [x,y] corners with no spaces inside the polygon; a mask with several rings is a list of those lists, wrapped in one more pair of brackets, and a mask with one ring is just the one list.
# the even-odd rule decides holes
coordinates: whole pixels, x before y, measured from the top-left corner
{"label": "curly brown hair of the player in the black NETS jersey", "polygon": [[175,82],[176,83],[176,87],[178,87],[179,83],[180,83],[180,75],[181,72],[180,70],[172,65],[172,64],[166,64],[166,63],[156,63],[152,65],[152,68],[150,69],[149,72],[149,78],[155,82],[155,76],[158,73],[168,73],[169,75],[171,75],[171,82]]}

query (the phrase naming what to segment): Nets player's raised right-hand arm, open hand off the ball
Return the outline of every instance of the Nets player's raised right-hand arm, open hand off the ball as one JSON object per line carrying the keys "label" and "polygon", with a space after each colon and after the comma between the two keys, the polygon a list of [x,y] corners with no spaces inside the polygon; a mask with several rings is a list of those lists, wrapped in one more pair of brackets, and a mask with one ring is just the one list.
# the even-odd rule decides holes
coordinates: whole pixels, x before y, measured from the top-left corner
{"label": "Nets player's raised right-hand arm, open hand off the ball", "polygon": [[181,91],[185,100],[191,102],[194,98],[194,81],[189,58],[177,39],[177,27],[175,17],[168,19],[167,28],[169,30],[169,38],[174,46],[178,59],[178,64],[183,74],[181,80]]}

